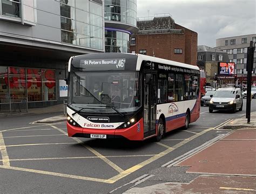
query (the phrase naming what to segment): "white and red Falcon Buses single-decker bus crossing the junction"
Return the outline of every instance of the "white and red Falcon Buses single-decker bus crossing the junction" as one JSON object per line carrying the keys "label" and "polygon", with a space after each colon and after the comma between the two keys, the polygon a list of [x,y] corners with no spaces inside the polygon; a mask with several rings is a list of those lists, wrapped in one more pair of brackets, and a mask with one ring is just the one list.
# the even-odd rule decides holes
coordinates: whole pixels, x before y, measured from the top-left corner
{"label": "white and red Falcon Buses single-decker bus crossing the junction", "polygon": [[69,60],[70,137],[145,140],[200,114],[197,66],[142,54],[97,53]]}

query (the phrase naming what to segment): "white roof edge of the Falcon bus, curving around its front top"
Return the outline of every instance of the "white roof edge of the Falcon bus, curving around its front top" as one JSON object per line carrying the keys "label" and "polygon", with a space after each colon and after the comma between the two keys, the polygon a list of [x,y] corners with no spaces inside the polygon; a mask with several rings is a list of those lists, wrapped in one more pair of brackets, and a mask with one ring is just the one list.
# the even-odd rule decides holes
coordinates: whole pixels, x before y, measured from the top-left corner
{"label": "white roof edge of the Falcon bus, curving around its front top", "polygon": [[[103,56],[104,57],[107,56],[108,58],[117,58],[119,56],[126,56],[126,55],[127,55],[128,58],[133,58],[133,59],[137,58],[136,71],[140,70],[140,67],[142,66],[143,61],[151,61],[153,63],[173,65],[173,66],[177,66],[177,67],[189,68],[189,69],[192,69],[192,70],[198,70],[199,71],[198,66],[188,65],[188,64],[185,64],[185,63],[179,63],[177,61],[166,60],[166,59],[161,59],[161,58],[157,58],[157,57],[146,56],[144,54],[134,54],[134,53],[92,53],[92,54],[83,54],[83,55],[80,55],[80,56],[71,57],[70,60],[69,60],[69,71],[70,71],[72,58],[80,60],[80,59],[86,59],[86,58],[97,59],[99,57],[99,58],[102,59]],[[93,57],[93,56],[95,56],[95,57]]]}

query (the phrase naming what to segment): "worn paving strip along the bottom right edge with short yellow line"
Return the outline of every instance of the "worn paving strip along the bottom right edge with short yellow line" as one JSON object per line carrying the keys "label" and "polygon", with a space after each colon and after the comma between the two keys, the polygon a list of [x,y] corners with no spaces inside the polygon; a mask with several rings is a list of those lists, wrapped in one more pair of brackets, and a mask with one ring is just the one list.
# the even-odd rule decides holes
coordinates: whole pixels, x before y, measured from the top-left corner
{"label": "worn paving strip along the bottom right edge with short yellow line", "polygon": [[124,193],[255,193],[256,177],[201,175],[190,183],[161,183]]}

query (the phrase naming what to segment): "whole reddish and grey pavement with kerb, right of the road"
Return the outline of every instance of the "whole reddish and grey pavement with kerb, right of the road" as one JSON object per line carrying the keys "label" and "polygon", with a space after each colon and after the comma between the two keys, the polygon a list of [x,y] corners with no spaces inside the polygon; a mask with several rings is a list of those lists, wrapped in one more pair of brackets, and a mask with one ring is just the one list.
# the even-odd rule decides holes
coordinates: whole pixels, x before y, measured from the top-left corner
{"label": "whole reddish and grey pavement with kerb, right of the road", "polygon": [[256,193],[256,112],[234,119],[206,143],[139,179],[124,193]]}

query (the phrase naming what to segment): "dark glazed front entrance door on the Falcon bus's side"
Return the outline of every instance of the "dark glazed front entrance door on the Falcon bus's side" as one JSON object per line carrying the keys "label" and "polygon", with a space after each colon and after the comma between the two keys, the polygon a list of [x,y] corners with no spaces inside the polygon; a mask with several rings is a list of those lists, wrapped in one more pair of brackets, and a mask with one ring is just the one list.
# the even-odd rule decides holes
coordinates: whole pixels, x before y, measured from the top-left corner
{"label": "dark glazed front entrance door on the Falcon bus's side", "polygon": [[156,134],[157,73],[144,72],[144,138]]}

